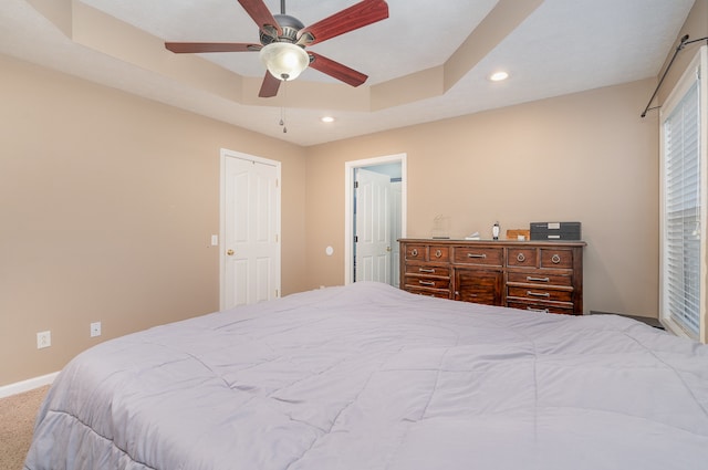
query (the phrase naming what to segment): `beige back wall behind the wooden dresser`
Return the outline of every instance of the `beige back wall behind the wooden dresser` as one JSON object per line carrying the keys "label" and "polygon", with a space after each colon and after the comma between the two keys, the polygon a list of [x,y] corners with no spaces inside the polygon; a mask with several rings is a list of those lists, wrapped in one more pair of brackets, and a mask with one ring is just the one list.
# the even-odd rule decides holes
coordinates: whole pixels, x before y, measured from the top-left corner
{"label": "beige back wall behind the wooden dresser", "polygon": [[[655,80],[311,147],[309,286],[344,280],[344,165],[407,154],[408,237],[491,236],[581,221],[585,311],[657,314],[658,134],[639,114]],[[326,257],[324,248],[335,248]]]}

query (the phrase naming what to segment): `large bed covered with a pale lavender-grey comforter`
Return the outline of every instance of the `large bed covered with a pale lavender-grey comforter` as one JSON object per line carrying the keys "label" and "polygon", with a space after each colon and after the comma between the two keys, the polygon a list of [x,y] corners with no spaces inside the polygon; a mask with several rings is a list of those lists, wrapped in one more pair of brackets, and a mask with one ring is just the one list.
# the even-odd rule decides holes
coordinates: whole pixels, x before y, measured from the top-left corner
{"label": "large bed covered with a pale lavender-grey comforter", "polygon": [[708,468],[708,346],[354,283],[76,356],[27,470]]}

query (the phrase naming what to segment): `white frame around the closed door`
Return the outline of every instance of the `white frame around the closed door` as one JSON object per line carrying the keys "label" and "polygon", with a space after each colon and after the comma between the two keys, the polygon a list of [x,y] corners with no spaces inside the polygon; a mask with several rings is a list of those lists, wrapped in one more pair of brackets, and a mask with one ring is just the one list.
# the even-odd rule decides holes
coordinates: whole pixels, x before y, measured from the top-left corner
{"label": "white frame around the closed door", "polygon": [[241,152],[221,148],[219,157],[219,310],[226,309],[226,251],[223,242],[226,240],[226,159],[239,158],[248,161],[256,161],[262,165],[275,167],[275,178],[278,179],[278,199],[275,200],[275,233],[278,234],[278,270],[275,273],[275,284],[278,296],[282,295],[282,237],[281,237],[281,208],[282,208],[282,181],[281,163],[269,158],[257,157]]}

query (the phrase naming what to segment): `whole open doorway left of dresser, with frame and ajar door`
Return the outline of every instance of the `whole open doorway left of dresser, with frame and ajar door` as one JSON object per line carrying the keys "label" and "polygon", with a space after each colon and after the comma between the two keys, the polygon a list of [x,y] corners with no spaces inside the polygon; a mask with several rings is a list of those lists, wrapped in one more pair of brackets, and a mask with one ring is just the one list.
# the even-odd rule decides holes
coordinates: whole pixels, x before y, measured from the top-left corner
{"label": "whole open doorway left of dresser, with frame and ajar door", "polygon": [[406,236],[406,155],[347,161],[345,171],[344,283],[378,281],[397,288],[397,240]]}

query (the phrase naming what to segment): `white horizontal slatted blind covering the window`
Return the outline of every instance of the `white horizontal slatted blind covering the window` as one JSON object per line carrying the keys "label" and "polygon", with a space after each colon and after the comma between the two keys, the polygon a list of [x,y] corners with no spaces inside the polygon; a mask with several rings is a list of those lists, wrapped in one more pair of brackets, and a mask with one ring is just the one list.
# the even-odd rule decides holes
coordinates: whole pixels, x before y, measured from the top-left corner
{"label": "white horizontal slatted blind covering the window", "polygon": [[694,337],[700,327],[699,77],[664,122],[665,273],[668,312]]}

